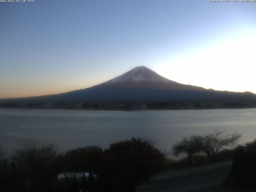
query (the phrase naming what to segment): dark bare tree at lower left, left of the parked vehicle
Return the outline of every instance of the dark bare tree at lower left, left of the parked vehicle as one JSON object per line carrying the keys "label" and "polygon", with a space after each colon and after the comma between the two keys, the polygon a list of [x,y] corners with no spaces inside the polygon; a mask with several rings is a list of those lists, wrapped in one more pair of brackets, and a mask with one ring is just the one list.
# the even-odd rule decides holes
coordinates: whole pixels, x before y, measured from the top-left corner
{"label": "dark bare tree at lower left, left of the parked vehicle", "polygon": [[30,185],[29,188],[37,186],[44,191],[51,187],[61,164],[60,154],[52,145],[25,146],[16,150],[12,160],[17,163],[22,178]]}

